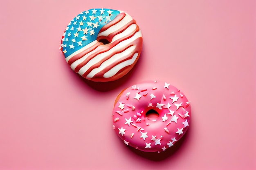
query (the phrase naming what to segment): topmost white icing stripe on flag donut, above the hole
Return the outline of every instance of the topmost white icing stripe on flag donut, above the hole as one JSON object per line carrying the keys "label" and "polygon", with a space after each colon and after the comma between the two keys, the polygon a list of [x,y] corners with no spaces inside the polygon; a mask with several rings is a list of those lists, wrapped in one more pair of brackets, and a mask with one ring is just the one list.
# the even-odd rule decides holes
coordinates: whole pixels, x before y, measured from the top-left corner
{"label": "topmost white icing stripe on flag donut, above the hole", "polygon": [[130,15],[128,15],[127,13],[125,13],[125,17],[117,22],[117,24],[110,26],[108,29],[106,29],[105,31],[101,32],[98,34],[98,37],[103,35],[103,36],[108,36],[110,33],[113,33],[119,29],[121,29],[123,26],[125,26],[128,22],[132,21],[132,17]]}

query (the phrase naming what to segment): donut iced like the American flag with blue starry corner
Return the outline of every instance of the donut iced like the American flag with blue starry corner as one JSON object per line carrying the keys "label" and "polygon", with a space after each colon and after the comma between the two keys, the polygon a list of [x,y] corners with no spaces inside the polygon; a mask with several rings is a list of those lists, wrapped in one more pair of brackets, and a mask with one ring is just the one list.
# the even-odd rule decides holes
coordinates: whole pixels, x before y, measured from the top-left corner
{"label": "donut iced like the American flag with blue starry corner", "polygon": [[72,70],[94,82],[110,82],[128,73],[142,49],[142,34],[126,12],[89,9],[67,25],[61,51]]}

